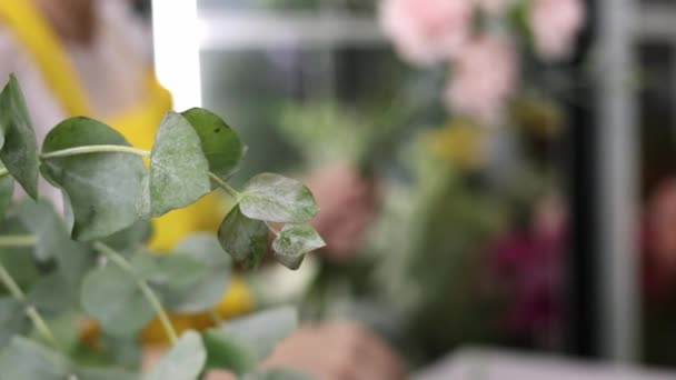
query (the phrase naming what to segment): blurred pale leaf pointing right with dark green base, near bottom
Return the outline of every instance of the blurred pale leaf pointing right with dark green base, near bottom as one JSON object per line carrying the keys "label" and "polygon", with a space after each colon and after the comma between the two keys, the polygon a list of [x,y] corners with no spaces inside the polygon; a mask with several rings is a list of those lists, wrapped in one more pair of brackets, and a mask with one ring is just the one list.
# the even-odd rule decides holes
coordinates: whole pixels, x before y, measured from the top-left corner
{"label": "blurred pale leaf pointing right with dark green base, near bottom", "polygon": [[252,370],[298,327],[298,312],[282,307],[228,321],[205,331],[208,366],[237,374]]}

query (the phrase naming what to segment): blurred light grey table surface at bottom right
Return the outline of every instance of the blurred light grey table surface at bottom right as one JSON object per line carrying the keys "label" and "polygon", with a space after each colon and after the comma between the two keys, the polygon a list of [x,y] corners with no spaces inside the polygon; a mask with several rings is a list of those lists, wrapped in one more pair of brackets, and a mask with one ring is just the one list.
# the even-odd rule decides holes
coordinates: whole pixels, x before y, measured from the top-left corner
{"label": "blurred light grey table surface at bottom right", "polygon": [[676,372],[629,366],[469,348],[438,361],[414,376],[415,380],[673,380]]}

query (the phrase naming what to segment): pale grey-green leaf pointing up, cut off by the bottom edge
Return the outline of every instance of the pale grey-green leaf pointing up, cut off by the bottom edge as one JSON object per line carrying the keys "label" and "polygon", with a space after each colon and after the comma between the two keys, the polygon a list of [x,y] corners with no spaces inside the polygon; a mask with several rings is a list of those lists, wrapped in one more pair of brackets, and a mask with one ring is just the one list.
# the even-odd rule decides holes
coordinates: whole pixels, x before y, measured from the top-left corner
{"label": "pale grey-green leaf pointing up, cut off by the bottom edge", "polygon": [[207,352],[201,337],[195,331],[186,331],[145,379],[196,380],[206,361]]}

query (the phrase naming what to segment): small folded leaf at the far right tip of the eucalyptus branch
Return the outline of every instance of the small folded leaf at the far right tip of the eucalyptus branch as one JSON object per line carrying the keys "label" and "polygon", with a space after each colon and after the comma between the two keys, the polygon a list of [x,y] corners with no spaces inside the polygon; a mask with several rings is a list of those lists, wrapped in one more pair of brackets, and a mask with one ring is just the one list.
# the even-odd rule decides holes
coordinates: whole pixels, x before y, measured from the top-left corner
{"label": "small folded leaf at the far right tip of the eucalyptus branch", "polygon": [[286,224],[272,241],[275,258],[292,270],[300,268],[306,253],[325,246],[324,239],[310,224]]}

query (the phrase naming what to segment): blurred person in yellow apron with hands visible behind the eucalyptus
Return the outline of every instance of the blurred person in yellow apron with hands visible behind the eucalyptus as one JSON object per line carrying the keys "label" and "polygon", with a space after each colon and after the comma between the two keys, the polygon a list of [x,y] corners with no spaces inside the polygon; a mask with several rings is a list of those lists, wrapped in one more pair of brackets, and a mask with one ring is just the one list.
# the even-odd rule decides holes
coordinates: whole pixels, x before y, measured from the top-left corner
{"label": "blurred person in yellow apron with hands visible behind the eucalyptus", "polygon": [[[39,141],[59,121],[88,116],[118,130],[132,146],[151,148],[157,126],[171,109],[171,98],[151,71],[145,43],[148,33],[130,6],[123,0],[0,1],[0,78],[16,73]],[[360,200],[366,192],[349,173],[340,176],[346,178],[342,186],[328,187],[326,194],[317,194],[320,207],[340,194],[341,201],[368,209],[370,202]],[[320,184],[315,188],[327,190]],[[58,189],[41,183],[41,193],[60,207]],[[346,209],[344,204],[327,204],[318,228],[329,243],[348,242],[336,250],[345,257],[358,241],[355,234],[364,230],[368,218],[344,228],[345,212],[339,212]],[[338,217],[331,217],[336,211]],[[153,221],[157,233],[150,247],[170,250],[190,232],[216,231],[225,212],[216,196],[172,211]],[[217,310],[227,318],[252,308],[243,281],[235,279]],[[177,317],[175,322],[179,329],[197,323],[192,317]],[[152,326],[145,338],[157,338]],[[317,354],[326,352],[326,347],[331,348],[330,354]],[[384,343],[349,323],[302,328],[269,360],[276,366],[307,370],[321,379],[395,380],[401,373],[398,360]],[[365,373],[368,376],[364,377]]]}

